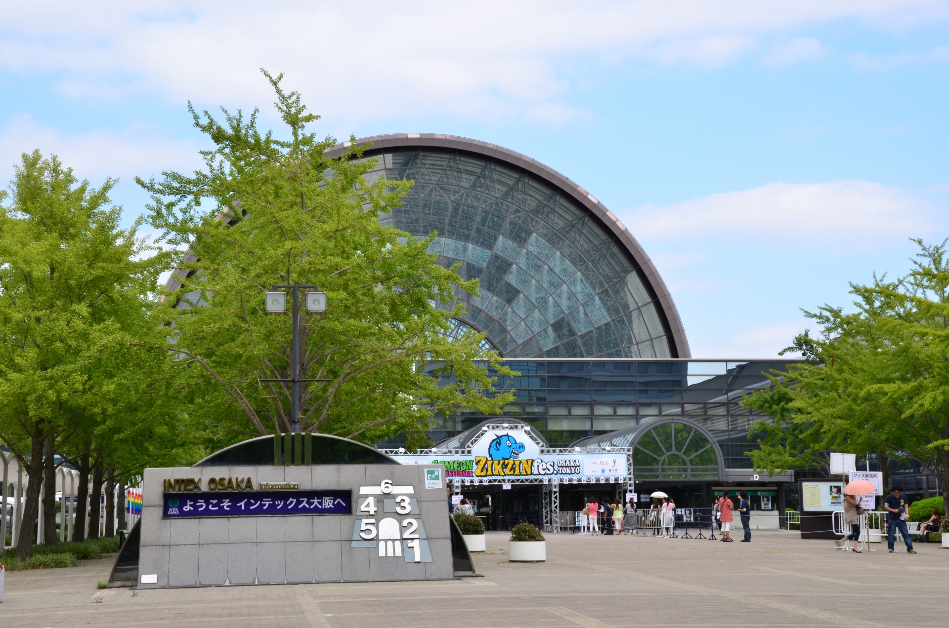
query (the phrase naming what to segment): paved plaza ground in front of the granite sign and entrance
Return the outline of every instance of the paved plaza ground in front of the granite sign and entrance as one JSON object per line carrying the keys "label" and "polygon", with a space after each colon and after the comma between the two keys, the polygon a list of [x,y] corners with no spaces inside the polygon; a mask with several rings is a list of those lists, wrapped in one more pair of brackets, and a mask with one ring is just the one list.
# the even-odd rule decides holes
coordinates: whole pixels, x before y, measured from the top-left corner
{"label": "paved plaza ground in front of the granite sign and entrance", "polygon": [[549,534],[547,563],[508,563],[507,534],[475,555],[483,578],[96,589],[111,560],[10,572],[0,626],[516,628],[583,626],[945,626],[949,549],[757,532],[751,544]]}

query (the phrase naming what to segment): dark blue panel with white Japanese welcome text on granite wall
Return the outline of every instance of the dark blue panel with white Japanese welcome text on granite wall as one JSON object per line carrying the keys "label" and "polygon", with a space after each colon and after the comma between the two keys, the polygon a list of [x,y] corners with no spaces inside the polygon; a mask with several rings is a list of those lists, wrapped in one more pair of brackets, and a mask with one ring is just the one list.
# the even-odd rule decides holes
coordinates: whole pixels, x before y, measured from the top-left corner
{"label": "dark blue panel with white Japanese welcome text on granite wall", "polygon": [[351,490],[254,490],[164,495],[164,519],[351,514]]}

